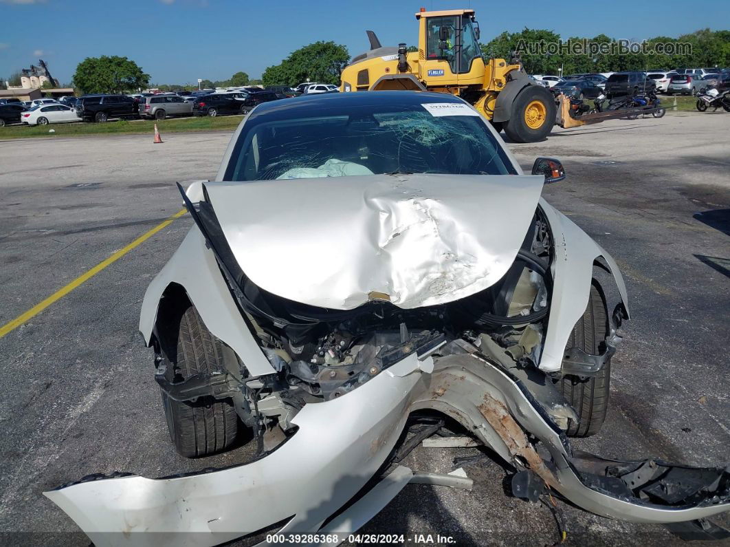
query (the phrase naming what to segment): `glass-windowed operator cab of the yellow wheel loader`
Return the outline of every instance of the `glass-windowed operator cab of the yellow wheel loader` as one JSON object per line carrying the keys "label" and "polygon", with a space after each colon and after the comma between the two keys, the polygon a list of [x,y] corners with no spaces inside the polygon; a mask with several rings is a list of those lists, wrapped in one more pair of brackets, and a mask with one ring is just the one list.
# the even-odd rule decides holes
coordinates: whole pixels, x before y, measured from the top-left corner
{"label": "glass-windowed operator cab of the yellow wheel loader", "polygon": [[477,39],[479,26],[473,12],[426,18],[426,58],[447,61],[453,74],[468,73],[472,61],[482,57]]}

